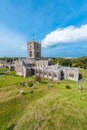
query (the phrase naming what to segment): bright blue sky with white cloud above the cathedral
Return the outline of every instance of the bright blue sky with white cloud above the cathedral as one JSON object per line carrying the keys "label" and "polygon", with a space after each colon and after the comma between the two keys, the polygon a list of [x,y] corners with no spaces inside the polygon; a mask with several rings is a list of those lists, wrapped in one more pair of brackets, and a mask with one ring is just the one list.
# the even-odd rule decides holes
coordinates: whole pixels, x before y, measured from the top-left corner
{"label": "bright blue sky with white cloud above the cathedral", "polygon": [[42,56],[86,56],[87,0],[0,0],[0,57],[27,57],[33,33]]}

